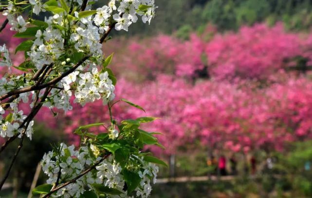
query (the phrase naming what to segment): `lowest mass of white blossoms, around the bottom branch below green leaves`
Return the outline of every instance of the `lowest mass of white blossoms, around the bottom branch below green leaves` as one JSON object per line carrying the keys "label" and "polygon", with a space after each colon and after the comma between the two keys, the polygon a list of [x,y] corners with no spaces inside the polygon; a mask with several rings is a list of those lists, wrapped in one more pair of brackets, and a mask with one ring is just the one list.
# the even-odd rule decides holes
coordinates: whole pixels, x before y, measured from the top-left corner
{"label": "lowest mass of white blossoms, around the bottom branch below green leaves", "polygon": [[[59,151],[51,151],[43,156],[41,166],[46,175],[48,175],[48,184],[55,184],[60,174],[59,181],[65,182],[77,177],[87,167],[99,161],[101,158],[94,158],[92,149],[88,147],[80,147],[79,150],[74,150],[74,146],[67,147],[64,143],[61,143]],[[144,163],[144,162],[143,162]],[[139,172],[142,181],[136,189],[138,197],[145,198],[150,194],[150,179],[157,177],[158,167],[151,163],[146,163],[143,167],[143,172]],[[127,192],[124,191],[125,180],[121,174],[122,168],[116,163],[113,156],[104,159],[93,171],[88,172],[81,178],[78,178],[74,183],[67,185],[66,187],[58,190],[52,197],[80,197],[86,188],[96,190],[92,186],[93,184],[102,184],[109,188],[113,188],[122,192],[121,195],[108,195],[111,197],[125,198]]]}

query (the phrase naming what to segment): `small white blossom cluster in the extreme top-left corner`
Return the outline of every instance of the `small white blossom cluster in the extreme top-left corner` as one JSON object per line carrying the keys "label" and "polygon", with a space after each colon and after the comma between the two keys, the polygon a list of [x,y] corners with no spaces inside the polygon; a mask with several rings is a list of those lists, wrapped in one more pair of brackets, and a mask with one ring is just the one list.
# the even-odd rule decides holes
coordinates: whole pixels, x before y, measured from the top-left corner
{"label": "small white blossom cluster in the extreme top-left corner", "polygon": [[3,11],[3,15],[9,20],[12,31],[24,32],[26,30],[26,22],[21,15],[18,15],[18,8],[9,1],[7,9]]}

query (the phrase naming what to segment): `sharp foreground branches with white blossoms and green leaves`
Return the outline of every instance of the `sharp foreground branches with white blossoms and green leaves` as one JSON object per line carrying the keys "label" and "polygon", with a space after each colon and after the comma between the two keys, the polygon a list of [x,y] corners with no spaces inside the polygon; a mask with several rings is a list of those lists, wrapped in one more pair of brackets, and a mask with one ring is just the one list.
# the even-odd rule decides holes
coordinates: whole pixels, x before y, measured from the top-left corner
{"label": "sharp foreground branches with white blossoms and green leaves", "polygon": [[[109,104],[114,99],[116,79],[108,68],[112,55],[103,56],[102,43],[112,29],[128,31],[138,16],[142,17],[143,22],[150,22],[156,8],[154,0],[110,0],[108,5],[96,10],[92,9],[92,4],[88,0],[48,0],[44,3],[41,0],[7,1],[1,4],[5,6],[3,15],[7,17],[2,29],[9,24],[10,30],[18,32],[15,37],[28,40],[22,41],[16,48],[16,52],[24,51],[25,54],[25,60],[18,66],[13,65],[6,45],[0,46],[0,65],[7,66],[9,71],[15,68],[23,72],[23,75],[8,72],[0,79],[0,136],[9,138],[1,146],[0,152],[10,142],[20,138],[0,188],[9,176],[24,137],[32,139],[33,119],[42,106],[66,112],[73,108],[71,98],[74,98],[74,103],[81,105],[99,99]],[[28,7],[32,11],[25,19]],[[34,14],[41,12],[50,12],[52,16],[44,21],[33,18]],[[30,104],[31,111],[27,116],[19,109],[20,103]],[[159,143],[152,134],[138,127],[141,122],[154,119],[138,119],[134,125],[131,123],[133,121],[125,120],[117,125],[111,116],[110,109],[108,133],[101,136],[88,133],[85,136],[86,131],[82,131],[88,127],[83,126],[79,128],[79,133],[76,131],[83,140],[83,146],[77,151],[72,146],[61,144],[45,155],[42,167],[49,176],[48,185],[53,184],[45,197],[55,197],[55,193],[56,197],[79,197],[95,192],[111,194],[103,191],[103,188],[109,188],[113,195],[118,192],[118,195],[124,196],[134,190],[138,196],[149,195],[149,180],[155,179],[158,172],[149,162],[164,163],[141,153],[145,144]],[[119,136],[119,133],[122,135]],[[107,152],[112,153],[110,159],[99,159],[101,153]],[[109,165],[114,167],[113,174],[107,175],[104,167]],[[150,167],[153,167],[151,172],[148,170]],[[97,172],[93,171],[94,168]],[[98,177],[96,182],[91,179],[94,174]],[[129,180],[133,177],[137,180],[135,183]],[[125,182],[127,192],[124,191]],[[87,186],[93,191],[86,191]],[[35,194],[37,192],[34,190]]]}

